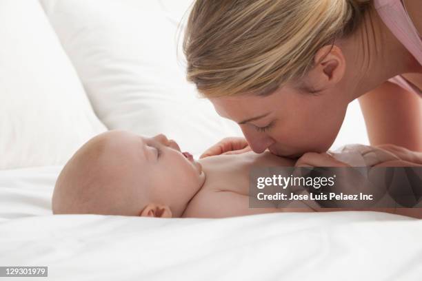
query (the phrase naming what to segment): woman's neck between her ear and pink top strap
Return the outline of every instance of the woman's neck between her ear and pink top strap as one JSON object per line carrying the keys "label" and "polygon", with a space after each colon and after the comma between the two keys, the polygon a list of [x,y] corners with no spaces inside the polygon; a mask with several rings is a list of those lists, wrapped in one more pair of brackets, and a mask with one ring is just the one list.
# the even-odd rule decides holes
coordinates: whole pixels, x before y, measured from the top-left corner
{"label": "woman's neck between her ear and pink top strap", "polygon": [[372,7],[361,27],[339,47],[348,62],[343,87],[351,91],[350,101],[373,90],[393,76],[422,72],[421,65],[396,39]]}

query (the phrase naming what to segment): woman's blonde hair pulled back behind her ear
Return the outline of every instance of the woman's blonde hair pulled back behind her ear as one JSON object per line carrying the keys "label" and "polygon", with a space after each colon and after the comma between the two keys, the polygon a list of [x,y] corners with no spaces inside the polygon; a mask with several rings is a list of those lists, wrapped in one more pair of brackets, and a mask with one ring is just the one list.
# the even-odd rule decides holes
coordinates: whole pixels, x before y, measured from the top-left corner
{"label": "woman's blonde hair pulled back behind her ear", "polygon": [[370,0],[197,0],[183,41],[207,98],[270,94],[303,77],[324,45],[352,34]]}

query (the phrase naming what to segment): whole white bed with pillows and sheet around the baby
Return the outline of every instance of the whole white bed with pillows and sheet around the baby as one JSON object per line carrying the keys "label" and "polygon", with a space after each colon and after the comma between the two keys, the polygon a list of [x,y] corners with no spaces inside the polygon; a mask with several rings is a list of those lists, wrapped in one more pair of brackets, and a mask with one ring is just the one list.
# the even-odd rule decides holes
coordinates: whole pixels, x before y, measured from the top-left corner
{"label": "whole white bed with pillows and sheet around the baby", "polygon": [[[196,156],[241,136],[184,81],[189,4],[0,2],[0,266],[46,266],[46,280],[421,280],[422,222],[404,216],[52,216],[59,172],[96,134],[164,132]],[[356,122],[353,103],[334,146],[368,143]]]}

